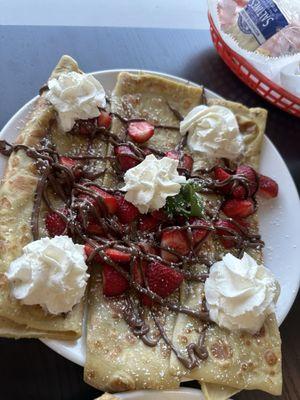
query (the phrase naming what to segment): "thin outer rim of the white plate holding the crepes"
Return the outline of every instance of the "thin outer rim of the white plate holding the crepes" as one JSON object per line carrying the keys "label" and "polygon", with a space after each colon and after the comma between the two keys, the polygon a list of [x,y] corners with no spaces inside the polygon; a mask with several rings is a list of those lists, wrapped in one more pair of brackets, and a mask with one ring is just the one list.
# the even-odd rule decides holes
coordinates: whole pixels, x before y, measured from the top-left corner
{"label": "thin outer rim of the white plate holding the crepes", "polygon": [[[152,70],[147,70],[147,69],[136,69],[136,68],[113,68],[113,69],[105,69],[105,70],[98,70],[98,71],[92,71],[87,73],[88,75],[93,75],[93,76],[97,76],[97,75],[109,75],[109,74],[118,74],[120,72],[132,72],[132,73],[149,73],[149,74],[153,74],[153,75],[157,75],[157,76],[163,76],[169,79],[174,80],[175,82],[181,82],[181,83],[186,83],[186,84],[190,84],[192,86],[195,87],[203,87],[205,92],[207,94],[209,94],[212,97],[215,98],[222,98],[224,99],[224,97],[220,96],[219,94],[217,94],[216,92],[206,88],[204,85],[200,85],[196,82],[193,82],[189,79],[185,79],[179,76],[175,76],[172,74],[168,74],[168,73],[164,73],[164,72],[160,72],[160,71],[152,71]],[[7,123],[2,127],[1,131],[0,131],[0,138],[3,136],[3,132],[7,129],[7,127],[9,126],[9,124],[13,123],[14,120],[18,119],[18,116],[20,116],[22,113],[24,113],[24,111],[30,107],[33,106],[34,102],[38,99],[38,95],[34,96],[32,99],[30,99],[29,101],[27,101],[19,110],[17,110],[17,112],[15,114],[13,114],[11,116],[11,118],[7,121]],[[28,112],[27,112],[28,114]],[[280,159],[280,161],[282,162],[282,164],[286,167],[286,171],[289,175],[290,181],[291,181],[291,189],[294,192],[294,194],[297,196],[298,201],[300,203],[300,197],[299,197],[299,192],[297,190],[295,181],[293,179],[293,176],[290,173],[290,170],[286,164],[286,162],[284,161],[283,157],[281,156],[279,150],[276,148],[276,146],[274,145],[274,143],[271,141],[271,139],[268,137],[268,135],[265,133],[264,134],[264,140],[265,140],[265,144],[267,143],[268,146],[271,147],[272,152],[274,152],[276,154],[276,157],[278,157]],[[295,292],[293,292],[289,298],[287,307],[285,308],[285,311],[282,313],[281,318],[278,320],[279,325],[282,324],[282,322],[285,320],[286,316],[288,315],[288,313],[290,312],[296,296],[299,292],[299,288],[300,288],[300,273],[298,276],[298,284],[297,284],[297,290]],[[40,339],[44,344],[46,344],[48,347],[50,347],[52,350],[54,350],[56,353],[60,354],[61,356],[67,358],[68,360],[76,363],[77,365],[83,365],[81,358],[82,357],[76,357],[74,356],[74,351],[72,351],[72,349],[68,349],[68,348],[64,348],[62,345],[64,343],[66,344],[71,344],[71,343],[76,343],[78,340],[83,340],[83,344],[85,342],[85,338],[81,337],[79,339],[77,339],[76,341],[58,341],[58,340],[51,340],[51,339]],[[85,357],[84,357],[85,358]]]}

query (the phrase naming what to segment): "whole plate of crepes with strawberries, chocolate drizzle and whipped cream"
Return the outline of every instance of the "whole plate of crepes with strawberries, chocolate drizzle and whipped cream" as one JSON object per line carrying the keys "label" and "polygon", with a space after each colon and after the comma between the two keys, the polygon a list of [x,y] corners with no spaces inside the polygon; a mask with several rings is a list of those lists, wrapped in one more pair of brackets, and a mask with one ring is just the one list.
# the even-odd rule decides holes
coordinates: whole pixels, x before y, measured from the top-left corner
{"label": "whole plate of crepes with strawberries, chocolate drizzle and whipped cream", "polygon": [[279,395],[299,200],[266,111],[162,74],[94,75],[63,56],[3,130],[1,336],[70,341],[48,344],[108,392]]}

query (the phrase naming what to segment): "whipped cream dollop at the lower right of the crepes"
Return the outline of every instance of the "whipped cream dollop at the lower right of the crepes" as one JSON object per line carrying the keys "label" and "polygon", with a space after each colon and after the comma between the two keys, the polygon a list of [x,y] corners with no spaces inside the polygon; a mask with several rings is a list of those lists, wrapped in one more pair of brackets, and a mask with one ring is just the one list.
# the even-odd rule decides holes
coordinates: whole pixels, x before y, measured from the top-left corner
{"label": "whipped cream dollop at the lower right of the crepes", "polygon": [[255,333],[274,312],[280,287],[271,271],[244,253],[226,254],[210,269],[205,296],[210,318],[231,331]]}

